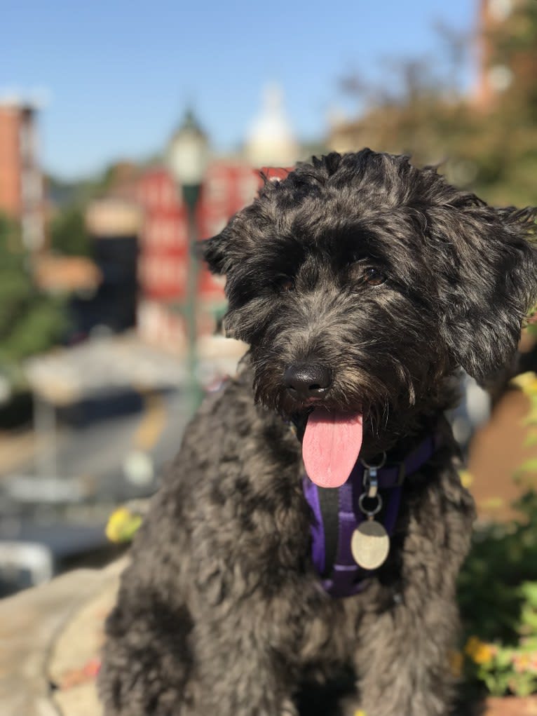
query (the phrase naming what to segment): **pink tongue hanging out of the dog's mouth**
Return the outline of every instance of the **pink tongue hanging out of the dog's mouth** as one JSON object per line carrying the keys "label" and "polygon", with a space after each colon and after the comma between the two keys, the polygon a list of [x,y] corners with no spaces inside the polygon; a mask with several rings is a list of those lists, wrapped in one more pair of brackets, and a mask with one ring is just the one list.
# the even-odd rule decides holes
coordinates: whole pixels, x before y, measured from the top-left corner
{"label": "pink tongue hanging out of the dog's mouth", "polygon": [[351,474],[361,447],[362,415],[337,415],[316,408],[302,440],[309,479],[321,488],[339,488]]}

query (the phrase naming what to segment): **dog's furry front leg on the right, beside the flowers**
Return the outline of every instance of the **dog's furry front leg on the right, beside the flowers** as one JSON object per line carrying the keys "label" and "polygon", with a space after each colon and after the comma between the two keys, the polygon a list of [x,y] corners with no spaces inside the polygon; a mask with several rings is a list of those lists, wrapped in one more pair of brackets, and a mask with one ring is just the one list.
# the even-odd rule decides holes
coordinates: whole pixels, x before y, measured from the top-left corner
{"label": "dog's furry front leg on the right, beside the flowers", "polygon": [[367,716],[450,713],[455,581],[473,517],[473,500],[451,471],[432,479],[407,505],[400,585],[388,602],[390,588],[371,585],[359,627],[355,666]]}

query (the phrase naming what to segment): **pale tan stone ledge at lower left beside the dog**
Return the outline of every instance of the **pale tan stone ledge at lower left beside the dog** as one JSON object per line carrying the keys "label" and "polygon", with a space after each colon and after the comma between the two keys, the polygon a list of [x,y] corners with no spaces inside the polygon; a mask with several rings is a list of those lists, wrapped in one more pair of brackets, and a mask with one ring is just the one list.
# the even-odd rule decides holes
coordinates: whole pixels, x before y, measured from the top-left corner
{"label": "pale tan stone ledge at lower left beside the dog", "polygon": [[0,602],[2,716],[100,713],[92,667],[124,566],[69,572]]}

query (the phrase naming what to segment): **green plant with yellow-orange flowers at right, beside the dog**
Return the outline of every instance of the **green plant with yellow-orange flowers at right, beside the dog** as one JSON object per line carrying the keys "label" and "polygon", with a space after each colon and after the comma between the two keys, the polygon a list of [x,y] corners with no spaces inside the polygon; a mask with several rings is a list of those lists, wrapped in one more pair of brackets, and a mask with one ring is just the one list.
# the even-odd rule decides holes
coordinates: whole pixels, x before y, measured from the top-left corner
{"label": "green plant with yellow-orange flowers at right, beside the dog", "polygon": [[[537,441],[537,376],[513,381],[530,400],[524,424]],[[526,460],[514,479],[525,490],[513,503],[516,517],[475,530],[460,574],[458,599],[465,629],[461,670],[469,690],[493,696],[537,692],[537,460]]]}

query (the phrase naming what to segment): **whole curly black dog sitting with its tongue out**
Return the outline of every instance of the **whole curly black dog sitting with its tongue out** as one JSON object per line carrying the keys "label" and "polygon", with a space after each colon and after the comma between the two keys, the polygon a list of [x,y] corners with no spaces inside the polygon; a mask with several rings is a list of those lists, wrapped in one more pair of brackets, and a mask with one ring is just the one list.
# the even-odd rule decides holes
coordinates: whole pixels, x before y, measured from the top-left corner
{"label": "whole curly black dog sitting with its tongue out", "polygon": [[[474,507],[442,414],[460,367],[483,382],[516,352],[537,296],[535,215],[364,149],[266,183],[205,242],[226,331],[250,348],[135,538],[106,627],[107,716],[450,712]],[[349,568],[351,596],[333,596],[344,529],[325,526],[320,574],[306,485],[324,499],[354,480],[377,505],[361,461],[383,453],[385,475],[405,467],[394,524],[367,521],[391,533],[389,555]],[[395,483],[379,482],[384,505]]]}

